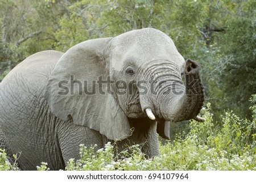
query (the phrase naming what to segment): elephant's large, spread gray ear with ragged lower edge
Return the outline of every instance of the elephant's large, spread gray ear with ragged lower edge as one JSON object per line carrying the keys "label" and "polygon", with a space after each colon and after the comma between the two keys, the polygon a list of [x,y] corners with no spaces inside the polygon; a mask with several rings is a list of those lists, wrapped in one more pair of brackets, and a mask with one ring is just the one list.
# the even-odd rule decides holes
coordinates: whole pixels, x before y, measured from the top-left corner
{"label": "elephant's large, spread gray ear with ragged lower edge", "polygon": [[63,54],[49,77],[44,98],[61,120],[72,119],[108,139],[123,139],[131,135],[129,121],[106,84],[109,70],[103,54],[111,39],[84,41]]}

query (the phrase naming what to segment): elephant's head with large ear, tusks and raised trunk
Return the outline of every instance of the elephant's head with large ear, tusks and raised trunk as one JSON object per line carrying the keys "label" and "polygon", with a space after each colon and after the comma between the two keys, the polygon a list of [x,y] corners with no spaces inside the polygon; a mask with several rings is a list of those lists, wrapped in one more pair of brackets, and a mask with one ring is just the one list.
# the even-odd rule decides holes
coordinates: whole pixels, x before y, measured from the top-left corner
{"label": "elephant's head with large ear, tusks and raised trunk", "polygon": [[199,65],[184,61],[166,34],[145,28],[73,46],[53,69],[44,97],[62,120],[123,139],[131,134],[129,118],[149,117],[159,127],[203,121],[203,90]]}

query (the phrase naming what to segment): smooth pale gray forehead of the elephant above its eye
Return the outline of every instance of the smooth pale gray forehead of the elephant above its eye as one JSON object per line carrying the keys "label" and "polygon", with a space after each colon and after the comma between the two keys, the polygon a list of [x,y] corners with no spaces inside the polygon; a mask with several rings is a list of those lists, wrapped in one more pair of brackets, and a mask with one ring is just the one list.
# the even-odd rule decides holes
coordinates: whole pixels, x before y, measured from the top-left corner
{"label": "smooth pale gray forehead of the elephant above its eye", "polygon": [[129,62],[139,66],[160,59],[175,63],[178,67],[184,64],[184,58],[171,38],[154,28],[123,33],[113,39],[112,45],[112,66],[118,70]]}

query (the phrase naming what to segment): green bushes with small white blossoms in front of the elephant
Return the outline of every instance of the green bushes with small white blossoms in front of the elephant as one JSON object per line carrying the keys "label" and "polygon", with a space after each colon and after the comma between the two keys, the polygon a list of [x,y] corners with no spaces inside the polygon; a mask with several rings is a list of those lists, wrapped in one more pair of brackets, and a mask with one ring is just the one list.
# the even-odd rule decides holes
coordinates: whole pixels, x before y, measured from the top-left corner
{"label": "green bushes with small white blossoms in front of the elephant", "polygon": [[[213,124],[210,104],[202,109],[205,122],[191,121],[189,133],[177,134],[174,141],[159,142],[160,155],[148,159],[139,145],[117,154],[109,142],[104,149],[80,145],[81,159],[70,159],[65,170],[256,170],[256,95],[250,107],[253,120],[232,111]],[[16,165],[16,162],[14,162]],[[18,170],[0,150],[0,170]],[[38,170],[49,170],[42,163]]]}

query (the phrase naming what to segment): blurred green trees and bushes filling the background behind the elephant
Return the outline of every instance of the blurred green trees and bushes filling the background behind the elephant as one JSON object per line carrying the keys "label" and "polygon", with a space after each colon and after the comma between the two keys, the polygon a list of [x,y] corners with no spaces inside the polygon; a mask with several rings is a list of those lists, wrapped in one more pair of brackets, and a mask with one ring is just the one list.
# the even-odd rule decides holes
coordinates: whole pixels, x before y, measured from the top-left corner
{"label": "blurred green trees and bushes filling the background behind the elephant", "polygon": [[[255,121],[249,109],[256,93],[255,0],[0,0],[0,13],[0,81],[40,50],[65,52],[88,39],[153,27],[169,35],[185,59],[199,62],[214,130],[225,128],[221,115],[228,110],[242,118],[230,123]],[[255,132],[250,127],[249,133],[241,129],[248,140]],[[255,155],[255,148],[250,152]]]}

